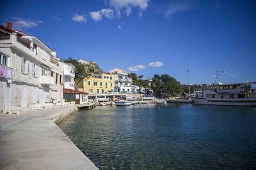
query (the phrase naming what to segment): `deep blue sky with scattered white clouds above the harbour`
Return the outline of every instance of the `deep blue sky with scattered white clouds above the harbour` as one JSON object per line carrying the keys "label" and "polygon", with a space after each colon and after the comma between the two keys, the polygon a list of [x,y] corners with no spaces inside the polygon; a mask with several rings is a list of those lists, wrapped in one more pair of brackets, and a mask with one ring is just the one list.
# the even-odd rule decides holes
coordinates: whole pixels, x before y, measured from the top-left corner
{"label": "deep blue sky with scattered white clouds above the harbour", "polygon": [[[57,57],[180,83],[256,81],[256,1],[2,1],[0,23]],[[230,76],[227,73],[236,76]]]}

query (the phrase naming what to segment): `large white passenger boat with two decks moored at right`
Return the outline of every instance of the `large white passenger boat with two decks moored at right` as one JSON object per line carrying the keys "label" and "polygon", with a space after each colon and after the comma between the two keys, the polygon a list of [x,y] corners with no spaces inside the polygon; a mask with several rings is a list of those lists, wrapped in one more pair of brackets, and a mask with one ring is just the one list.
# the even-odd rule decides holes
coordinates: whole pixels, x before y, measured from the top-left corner
{"label": "large white passenger boat with two decks moored at right", "polygon": [[189,97],[194,104],[256,106],[256,82],[215,83],[209,90],[196,91]]}

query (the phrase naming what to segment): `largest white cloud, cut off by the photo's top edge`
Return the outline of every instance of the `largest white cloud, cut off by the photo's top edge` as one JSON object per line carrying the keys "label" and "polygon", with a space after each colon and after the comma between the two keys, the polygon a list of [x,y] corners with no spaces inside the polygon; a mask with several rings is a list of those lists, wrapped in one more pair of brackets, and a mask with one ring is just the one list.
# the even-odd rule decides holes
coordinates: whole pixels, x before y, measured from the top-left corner
{"label": "largest white cloud, cut off by the photo's top edge", "polygon": [[150,0],[109,0],[110,6],[116,10],[116,16],[121,17],[121,10],[125,8],[125,15],[130,16],[132,13],[131,7],[140,8],[139,16],[142,16],[143,10],[146,10]]}

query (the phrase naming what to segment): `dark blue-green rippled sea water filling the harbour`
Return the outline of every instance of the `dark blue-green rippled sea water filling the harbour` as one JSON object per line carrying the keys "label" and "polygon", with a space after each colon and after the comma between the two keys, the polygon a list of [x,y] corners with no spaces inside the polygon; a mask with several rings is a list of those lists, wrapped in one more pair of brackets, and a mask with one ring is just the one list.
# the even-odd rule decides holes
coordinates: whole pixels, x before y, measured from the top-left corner
{"label": "dark blue-green rippled sea water filling the harbour", "polygon": [[99,169],[256,169],[253,107],[97,106],[58,126]]}

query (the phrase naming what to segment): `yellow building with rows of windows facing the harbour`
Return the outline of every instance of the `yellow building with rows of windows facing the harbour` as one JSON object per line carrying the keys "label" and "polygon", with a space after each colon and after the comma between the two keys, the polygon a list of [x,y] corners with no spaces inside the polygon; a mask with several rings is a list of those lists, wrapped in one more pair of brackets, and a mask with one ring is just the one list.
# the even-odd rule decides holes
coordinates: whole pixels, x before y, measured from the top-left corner
{"label": "yellow building with rows of windows facing the harbour", "polygon": [[77,81],[77,88],[89,94],[104,94],[115,89],[115,74],[93,74],[90,78]]}

